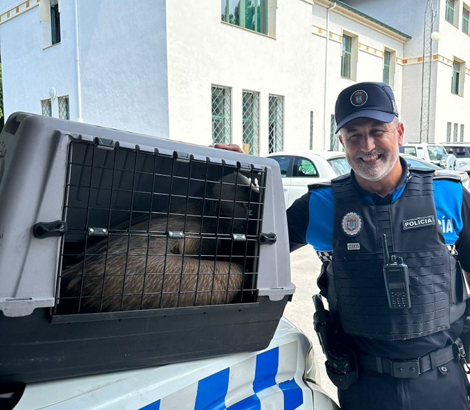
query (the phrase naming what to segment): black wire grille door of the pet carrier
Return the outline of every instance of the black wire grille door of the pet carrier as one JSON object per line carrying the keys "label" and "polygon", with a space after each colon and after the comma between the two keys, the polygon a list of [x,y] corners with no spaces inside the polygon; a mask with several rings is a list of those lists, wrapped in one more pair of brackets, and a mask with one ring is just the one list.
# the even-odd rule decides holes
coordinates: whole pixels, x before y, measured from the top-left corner
{"label": "black wire grille door of the pet carrier", "polygon": [[56,314],[257,300],[263,169],[71,142]]}

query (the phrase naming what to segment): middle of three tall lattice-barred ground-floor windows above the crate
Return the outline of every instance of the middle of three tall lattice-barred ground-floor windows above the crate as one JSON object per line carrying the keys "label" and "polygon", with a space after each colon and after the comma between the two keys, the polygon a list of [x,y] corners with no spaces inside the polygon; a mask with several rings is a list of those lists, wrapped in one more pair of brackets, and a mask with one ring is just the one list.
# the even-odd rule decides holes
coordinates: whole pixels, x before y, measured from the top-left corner
{"label": "middle of three tall lattice-barred ground-floor windows above the crate", "polygon": [[243,91],[243,152],[259,155],[259,93]]}

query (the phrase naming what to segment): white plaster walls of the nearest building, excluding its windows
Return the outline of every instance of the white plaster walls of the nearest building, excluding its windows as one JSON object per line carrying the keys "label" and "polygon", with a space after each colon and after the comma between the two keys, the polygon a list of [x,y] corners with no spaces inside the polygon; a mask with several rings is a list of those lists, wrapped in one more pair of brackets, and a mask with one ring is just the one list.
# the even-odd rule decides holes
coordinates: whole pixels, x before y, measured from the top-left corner
{"label": "white plaster walls of the nearest building, excluding its windows", "polygon": [[[314,149],[330,147],[336,97],[354,83],[341,78],[343,30],[359,36],[357,81],[382,80],[384,47],[404,54],[404,39],[332,10],[326,59],[326,8],[306,0],[277,0],[272,37],[221,22],[220,0],[184,7],[165,0],[77,1],[84,122],[208,145],[211,86],[218,84],[232,87],[232,136],[241,145],[243,90],[258,91],[262,155],[268,149],[269,94],[285,98],[285,149],[308,149],[310,111]],[[62,0],[62,41],[45,49],[39,7],[0,24],[7,114],[41,113],[40,100],[55,87],[57,95],[69,95],[71,119],[78,118],[74,4]],[[401,86],[397,64],[399,109]]]}

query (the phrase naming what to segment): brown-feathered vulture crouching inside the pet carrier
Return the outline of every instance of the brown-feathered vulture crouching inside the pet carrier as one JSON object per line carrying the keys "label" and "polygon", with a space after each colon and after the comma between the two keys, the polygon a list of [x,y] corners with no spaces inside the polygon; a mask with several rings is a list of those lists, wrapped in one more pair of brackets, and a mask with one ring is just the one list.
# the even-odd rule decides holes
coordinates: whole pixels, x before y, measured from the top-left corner
{"label": "brown-feathered vulture crouching inside the pet carrier", "polygon": [[[250,218],[259,221],[260,188],[253,171],[236,167],[226,167],[215,180],[205,178],[202,193],[176,198],[174,205],[170,195],[167,209],[109,225],[109,235],[88,241],[75,260],[64,257],[58,313],[235,301],[252,280],[246,272],[255,269],[245,257],[256,252],[247,234],[259,230]],[[191,177],[185,181],[183,190]]]}

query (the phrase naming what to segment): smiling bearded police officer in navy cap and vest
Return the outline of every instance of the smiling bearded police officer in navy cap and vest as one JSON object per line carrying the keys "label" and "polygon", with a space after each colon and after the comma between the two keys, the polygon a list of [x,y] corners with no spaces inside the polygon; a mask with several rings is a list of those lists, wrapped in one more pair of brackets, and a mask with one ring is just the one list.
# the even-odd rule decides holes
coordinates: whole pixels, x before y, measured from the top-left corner
{"label": "smiling bearded police officer in navy cap and vest", "polygon": [[470,192],[400,158],[404,125],[386,84],[344,89],[335,115],[352,171],[310,186],[288,225],[291,250],[309,243],[323,261],[321,294],[353,351],[341,409],[469,409],[458,346]]}

